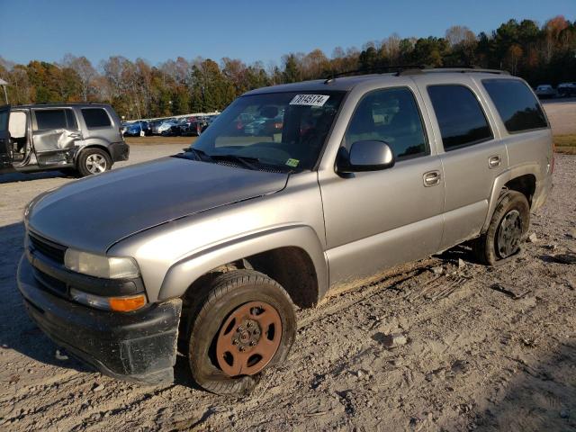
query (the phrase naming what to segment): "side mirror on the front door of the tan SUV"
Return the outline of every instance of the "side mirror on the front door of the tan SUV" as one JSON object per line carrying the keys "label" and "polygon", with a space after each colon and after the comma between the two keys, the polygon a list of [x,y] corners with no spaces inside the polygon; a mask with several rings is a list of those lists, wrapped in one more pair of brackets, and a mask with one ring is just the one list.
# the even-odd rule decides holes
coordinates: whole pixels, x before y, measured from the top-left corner
{"label": "side mirror on the front door of the tan SUV", "polygon": [[379,171],[394,166],[396,160],[392,148],[384,141],[366,140],[352,144],[350,152],[338,156],[338,173]]}

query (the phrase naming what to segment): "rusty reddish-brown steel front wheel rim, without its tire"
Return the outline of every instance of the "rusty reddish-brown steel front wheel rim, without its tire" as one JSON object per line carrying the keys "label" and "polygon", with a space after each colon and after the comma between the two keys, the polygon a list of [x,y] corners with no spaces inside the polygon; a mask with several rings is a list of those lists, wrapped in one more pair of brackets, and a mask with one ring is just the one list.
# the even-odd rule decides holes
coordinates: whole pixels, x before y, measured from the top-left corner
{"label": "rusty reddish-brown steel front wheel rim, without its tire", "polygon": [[275,356],[282,338],[282,320],[266,302],[248,302],[230,313],[216,341],[218,365],[229,376],[253,375]]}

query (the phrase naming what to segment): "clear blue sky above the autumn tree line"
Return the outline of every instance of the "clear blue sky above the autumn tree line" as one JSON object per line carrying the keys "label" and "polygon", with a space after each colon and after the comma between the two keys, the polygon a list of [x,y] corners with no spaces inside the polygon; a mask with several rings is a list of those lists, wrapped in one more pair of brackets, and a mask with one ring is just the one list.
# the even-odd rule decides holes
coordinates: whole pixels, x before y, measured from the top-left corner
{"label": "clear blue sky above the autumn tree line", "polygon": [[25,64],[72,53],[94,65],[112,55],[153,65],[229,57],[266,66],[289,52],[330,56],[393,32],[444,36],[459,24],[478,33],[558,14],[576,20],[576,0],[0,0],[0,56]]}

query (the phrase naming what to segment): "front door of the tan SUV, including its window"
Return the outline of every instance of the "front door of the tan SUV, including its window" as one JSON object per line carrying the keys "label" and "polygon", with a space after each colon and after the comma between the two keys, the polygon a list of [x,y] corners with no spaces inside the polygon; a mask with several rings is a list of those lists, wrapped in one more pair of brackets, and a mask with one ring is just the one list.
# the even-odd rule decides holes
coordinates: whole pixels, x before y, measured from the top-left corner
{"label": "front door of the tan SUV, including its window", "polygon": [[331,285],[438,250],[444,175],[419,101],[413,83],[377,89],[360,99],[348,124],[340,151],[359,140],[383,140],[395,166],[348,176],[319,171]]}

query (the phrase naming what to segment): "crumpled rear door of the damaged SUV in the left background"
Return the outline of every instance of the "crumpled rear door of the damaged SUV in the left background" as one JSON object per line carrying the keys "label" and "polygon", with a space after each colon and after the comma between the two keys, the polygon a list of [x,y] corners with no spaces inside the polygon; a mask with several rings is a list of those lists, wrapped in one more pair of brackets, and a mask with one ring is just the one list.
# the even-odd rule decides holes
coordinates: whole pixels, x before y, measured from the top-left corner
{"label": "crumpled rear door of the damaged SUV in the left background", "polygon": [[32,111],[32,142],[39,166],[65,165],[72,161],[76,141],[82,140],[70,108],[37,108]]}

